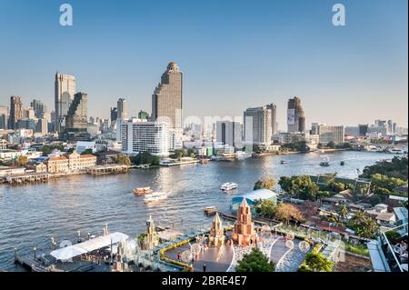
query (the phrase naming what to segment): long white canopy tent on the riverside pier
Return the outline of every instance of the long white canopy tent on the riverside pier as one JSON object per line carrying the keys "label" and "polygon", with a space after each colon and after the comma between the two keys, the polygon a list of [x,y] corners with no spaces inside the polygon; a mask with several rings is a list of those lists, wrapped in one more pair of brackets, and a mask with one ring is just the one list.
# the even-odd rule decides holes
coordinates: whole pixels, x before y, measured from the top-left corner
{"label": "long white canopy tent on the riverside pier", "polygon": [[76,245],[69,245],[64,248],[57,249],[50,253],[55,259],[67,261],[78,255],[83,255],[107,246],[116,245],[119,242],[125,241],[129,236],[115,232],[109,235],[101,235],[93,239],[87,240]]}

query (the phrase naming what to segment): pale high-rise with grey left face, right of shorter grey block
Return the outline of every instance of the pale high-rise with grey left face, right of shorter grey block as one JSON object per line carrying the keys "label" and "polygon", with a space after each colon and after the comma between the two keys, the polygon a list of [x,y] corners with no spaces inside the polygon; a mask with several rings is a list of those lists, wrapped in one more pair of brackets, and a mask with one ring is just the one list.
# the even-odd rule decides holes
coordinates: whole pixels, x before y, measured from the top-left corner
{"label": "pale high-rise with grey left face, right of shorter grey block", "polygon": [[248,108],[244,111],[244,142],[269,145],[272,142],[272,109],[269,105]]}

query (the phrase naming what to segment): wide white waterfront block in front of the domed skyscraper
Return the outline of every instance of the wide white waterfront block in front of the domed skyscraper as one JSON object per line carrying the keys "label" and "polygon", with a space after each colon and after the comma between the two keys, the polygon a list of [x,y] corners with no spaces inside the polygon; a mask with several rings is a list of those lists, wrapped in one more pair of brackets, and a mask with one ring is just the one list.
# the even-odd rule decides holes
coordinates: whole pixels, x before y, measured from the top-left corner
{"label": "wide white waterfront block in front of the domed skyscraper", "polygon": [[121,125],[122,152],[129,155],[150,152],[167,156],[174,150],[174,135],[165,122],[134,119]]}

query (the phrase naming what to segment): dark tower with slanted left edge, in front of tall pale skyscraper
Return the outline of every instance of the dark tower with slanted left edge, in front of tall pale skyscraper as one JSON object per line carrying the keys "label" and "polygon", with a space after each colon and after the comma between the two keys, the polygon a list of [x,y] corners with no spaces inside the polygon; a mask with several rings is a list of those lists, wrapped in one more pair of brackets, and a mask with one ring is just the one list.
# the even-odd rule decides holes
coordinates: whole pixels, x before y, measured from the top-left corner
{"label": "dark tower with slanted left edge, in front of tall pale skyscraper", "polygon": [[65,117],[65,137],[70,140],[87,139],[87,95],[77,93]]}

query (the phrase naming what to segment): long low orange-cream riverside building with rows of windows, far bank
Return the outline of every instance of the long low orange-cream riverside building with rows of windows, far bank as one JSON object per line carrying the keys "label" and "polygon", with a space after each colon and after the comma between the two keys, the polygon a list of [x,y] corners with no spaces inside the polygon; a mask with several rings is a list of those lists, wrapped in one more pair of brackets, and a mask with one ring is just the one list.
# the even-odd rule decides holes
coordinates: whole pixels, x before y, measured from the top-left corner
{"label": "long low orange-cream riverside building with rows of windows, far bank", "polygon": [[96,165],[95,155],[79,155],[76,152],[66,156],[50,157],[47,161],[47,170],[50,174],[66,173],[83,170]]}

